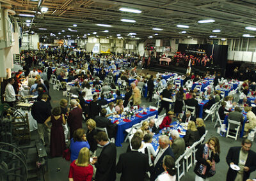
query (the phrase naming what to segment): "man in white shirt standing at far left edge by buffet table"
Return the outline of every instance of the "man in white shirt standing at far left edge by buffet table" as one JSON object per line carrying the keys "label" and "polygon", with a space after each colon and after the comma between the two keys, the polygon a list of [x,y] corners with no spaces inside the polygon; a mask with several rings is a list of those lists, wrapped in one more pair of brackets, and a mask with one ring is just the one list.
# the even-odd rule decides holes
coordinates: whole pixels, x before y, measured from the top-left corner
{"label": "man in white shirt standing at far left edge by buffet table", "polygon": [[8,84],[5,87],[5,101],[6,103],[8,103],[8,105],[10,105],[11,107],[13,107],[13,104],[16,101],[16,94],[13,88],[13,83],[14,83],[14,78],[9,78],[8,79]]}

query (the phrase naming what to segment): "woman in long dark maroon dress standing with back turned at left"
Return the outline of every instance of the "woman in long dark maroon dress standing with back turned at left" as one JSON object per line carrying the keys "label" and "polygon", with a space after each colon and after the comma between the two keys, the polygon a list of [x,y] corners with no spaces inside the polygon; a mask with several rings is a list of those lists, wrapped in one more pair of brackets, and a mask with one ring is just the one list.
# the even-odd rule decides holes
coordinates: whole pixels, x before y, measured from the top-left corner
{"label": "woman in long dark maroon dress standing with back turned at left", "polygon": [[[52,122],[52,127],[47,123]],[[52,115],[47,118],[44,122],[45,126],[51,129],[51,144],[50,152],[52,157],[62,156],[63,151],[66,148],[65,136],[62,124],[66,124],[64,115],[61,114],[60,107],[56,107],[52,110]]]}

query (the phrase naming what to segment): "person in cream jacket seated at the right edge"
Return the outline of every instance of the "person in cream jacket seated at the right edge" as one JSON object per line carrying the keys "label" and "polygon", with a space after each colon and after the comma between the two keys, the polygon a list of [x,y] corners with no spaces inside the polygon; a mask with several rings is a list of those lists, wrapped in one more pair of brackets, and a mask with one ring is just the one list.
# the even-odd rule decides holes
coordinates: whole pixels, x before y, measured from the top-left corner
{"label": "person in cream jacket seated at the right edge", "polygon": [[249,121],[244,124],[245,135],[243,136],[243,138],[246,138],[248,136],[249,131],[256,128],[256,116],[249,106],[246,106],[244,108],[244,111],[247,113],[246,119]]}

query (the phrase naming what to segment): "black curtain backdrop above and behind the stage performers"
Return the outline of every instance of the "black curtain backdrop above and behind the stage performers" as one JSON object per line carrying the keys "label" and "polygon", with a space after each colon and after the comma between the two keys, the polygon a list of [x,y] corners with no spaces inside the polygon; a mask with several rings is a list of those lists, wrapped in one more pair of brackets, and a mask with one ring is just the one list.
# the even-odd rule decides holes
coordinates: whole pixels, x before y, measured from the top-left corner
{"label": "black curtain backdrop above and behind the stage performers", "polygon": [[[213,47],[214,46],[214,47]],[[213,47],[213,54],[212,54]],[[213,65],[218,68],[226,68],[227,56],[228,56],[228,45],[209,45],[209,44],[183,44],[179,43],[178,52],[186,54],[186,50],[196,50],[202,49],[205,50],[207,57],[212,55]],[[188,54],[188,53],[187,53]]]}

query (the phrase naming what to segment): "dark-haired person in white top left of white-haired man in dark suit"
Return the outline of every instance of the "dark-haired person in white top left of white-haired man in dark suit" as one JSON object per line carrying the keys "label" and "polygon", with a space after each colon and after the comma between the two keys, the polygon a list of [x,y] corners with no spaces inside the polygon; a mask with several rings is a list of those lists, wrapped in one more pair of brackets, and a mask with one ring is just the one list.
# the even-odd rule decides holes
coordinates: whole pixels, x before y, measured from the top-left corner
{"label": "dark-haired person in white top left of white-haired man in dark suit", "polygon": [[152,160],[151,157],[156,157],[156,151],[154,150],[154,147],[152,145],[153,135],[152,134],[145,134],[143,137],[143,141],[145,143],[145,154],[148,155],[148,163],[149,166],[152,166]]}

